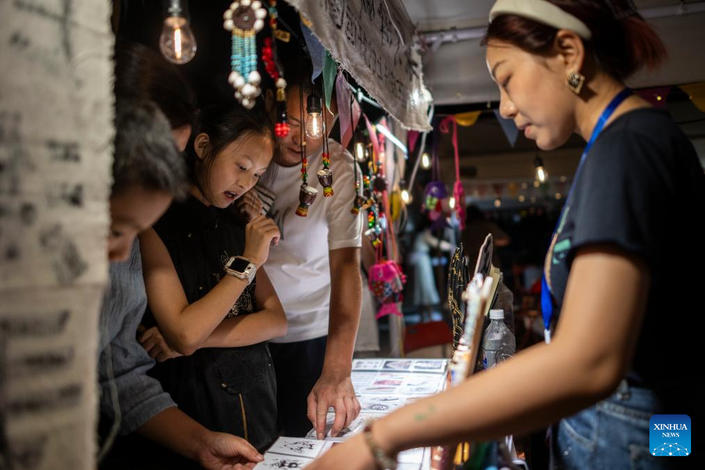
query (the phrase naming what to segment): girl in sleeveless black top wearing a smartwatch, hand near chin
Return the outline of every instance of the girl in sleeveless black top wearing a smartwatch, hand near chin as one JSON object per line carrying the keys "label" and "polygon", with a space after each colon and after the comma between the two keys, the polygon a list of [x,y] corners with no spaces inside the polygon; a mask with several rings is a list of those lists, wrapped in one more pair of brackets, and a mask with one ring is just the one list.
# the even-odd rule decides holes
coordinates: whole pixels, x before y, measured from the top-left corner
{"label": "girl in sleeveless black top wearing a smartwatch, hand near chin", "polygon": [[267,170],[274,132],[261,105],[219,104],[199,120],[188,198],[140,234],[151,327],[140,342],[179,409],[264,450],[277,437],[266,341],[286,334],[286,316],[262,265],[279,230],[264,216],[245,225],[232,204]]}

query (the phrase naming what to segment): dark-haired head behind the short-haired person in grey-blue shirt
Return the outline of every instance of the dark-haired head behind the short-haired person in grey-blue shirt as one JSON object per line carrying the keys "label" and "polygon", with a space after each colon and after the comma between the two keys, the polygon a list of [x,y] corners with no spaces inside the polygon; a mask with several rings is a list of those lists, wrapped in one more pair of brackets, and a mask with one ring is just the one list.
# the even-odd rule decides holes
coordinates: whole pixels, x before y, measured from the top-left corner
{"label": "dark-haired head behind the short-haired person in grey-blue shirt", "polygon": [[136,42],[118,42],[115,94],[154,101],[169,120],[178,148],[185,149],[194,123],[196,95],[176,66],[157,51]]}

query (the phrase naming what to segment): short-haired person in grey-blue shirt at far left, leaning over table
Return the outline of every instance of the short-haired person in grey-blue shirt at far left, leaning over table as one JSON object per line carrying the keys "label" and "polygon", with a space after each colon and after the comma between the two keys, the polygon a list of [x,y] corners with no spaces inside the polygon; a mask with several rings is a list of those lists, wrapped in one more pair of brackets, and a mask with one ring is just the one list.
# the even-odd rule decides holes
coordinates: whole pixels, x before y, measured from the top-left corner
{"label": "short-haired person in grey-blue shirt at far left, leaning over table", "polygon": [[[149,56],[142,47],[135,51]],[[187,172],[180,154],[183,147],[178,148],[175,142],[183,132],[173,132],[173,123],[178,125],[180,121],[171,120],[170,125],[157,104],[149,101],[150,94],[161,93],[157,88],[148,93],[125,91],[121,80],[127,75],[121,64],[130,61],[125,62],[120,49],[118,56],[116,89],[123,94],[118,95],[116,105],[108,240],[110,278],[99,317],[100,467],[157,469],[168,464],[168,459],[149,462],[139,447],[135,449],[133,439],[121,437],[113,445],[116,433],[127,435],[133,431],[208,469],[259,462],[262,457],[252,445],[235,435],[204,428],[176,408],[159,381],[147,376],[154,359],[135,338],[147,307],[140,244],[135,235],[157,221],[174,197],[185,195]],[[164,62],[160,56],[153,59]],[[157,82],[178,75],[176,69],[157,69],[164,72],[153,76]]]}

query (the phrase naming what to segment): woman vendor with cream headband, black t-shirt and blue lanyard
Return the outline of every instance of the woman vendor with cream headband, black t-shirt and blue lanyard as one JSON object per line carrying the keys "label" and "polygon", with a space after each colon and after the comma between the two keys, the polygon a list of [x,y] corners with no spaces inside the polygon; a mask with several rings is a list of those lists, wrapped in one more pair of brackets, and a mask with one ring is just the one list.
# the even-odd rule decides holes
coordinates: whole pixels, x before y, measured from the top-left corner
{"label": "woman vendor with cream headband, black t-shirt and blue lanyard", "polygon": [[546,255],[546,344],[374,421],[307,468],[394,468],[412,447],[545,426],[554,468],[670,468],[649,419],[692,415],[701,395],[704,249],[696,230],[673,229],[705,218],[705,176],[668,113],[624,85],[665,58],[663,44],[616,0],[499,0],[483,44],[504,118],[541,149],[574,132],[587,142]]}

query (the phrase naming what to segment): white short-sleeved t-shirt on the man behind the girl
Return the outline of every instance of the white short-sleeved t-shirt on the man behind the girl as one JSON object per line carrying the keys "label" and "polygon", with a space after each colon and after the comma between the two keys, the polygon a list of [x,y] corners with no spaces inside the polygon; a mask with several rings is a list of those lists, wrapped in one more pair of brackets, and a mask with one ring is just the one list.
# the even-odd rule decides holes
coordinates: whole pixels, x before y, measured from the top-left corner
{"label": "white short-sleeved t-shirt on the man behind the girl", "polygon": [[[266,273],[286,311],[288,333],[271,342],[296,342],[328,334],[331,296],[330,250],[362,245],[362,218],[350,209],[355,197],[355,161],[341,144],[329,140],[333,196],[324,197],[316,177],[323,168],[322,149],[309,156],[308,184],[319,190],[308,215],[296,215],[301,186],[300,166],[278,166],[269,190],[276,194],[271,214],[281,240],[269,250]],[[357,171],[360,180],[360,171]]]}

